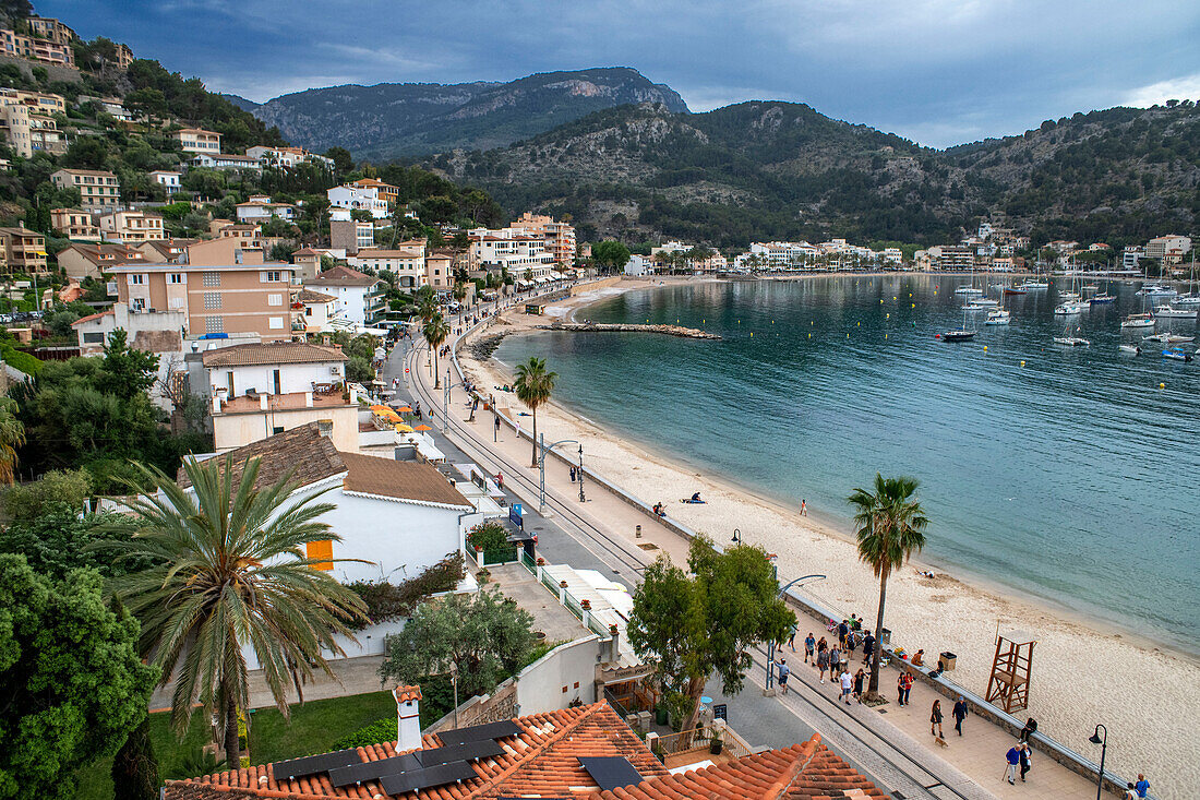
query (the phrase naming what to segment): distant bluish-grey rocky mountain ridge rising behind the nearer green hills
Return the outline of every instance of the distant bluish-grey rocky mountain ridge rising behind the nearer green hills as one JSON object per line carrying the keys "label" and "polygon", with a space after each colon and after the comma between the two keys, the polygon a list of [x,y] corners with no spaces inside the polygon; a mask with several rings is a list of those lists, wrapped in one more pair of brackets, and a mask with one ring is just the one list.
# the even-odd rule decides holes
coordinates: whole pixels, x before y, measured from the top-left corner
{"label": "distant bluish-grey rocky mountain ridge rising behind the nearer green hills", "polygon": [[673,89],[628,67],[544,72],[508,83],[329,86],[265,103],[227,97],[268,126],[277,126],[293,144],[318,153],[343,147],[355,159],[372,161],[503,147],[629,103],[688,111]]}

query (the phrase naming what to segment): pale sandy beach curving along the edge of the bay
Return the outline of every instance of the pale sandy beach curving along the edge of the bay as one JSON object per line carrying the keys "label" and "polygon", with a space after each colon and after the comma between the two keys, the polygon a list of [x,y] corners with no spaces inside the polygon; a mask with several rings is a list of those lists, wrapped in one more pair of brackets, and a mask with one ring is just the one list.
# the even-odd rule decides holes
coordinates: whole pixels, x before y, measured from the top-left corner
{"label": "pale sandy beach curving along the edge of the bay", "polygon": [[[652,285],[658,285],[658,280],[622,281],[551,303],[546,314],[568,317],[613,293]],[[484,335],[527,332],[546,322],[545,316],[509,314]],[[502,365],[491,359],[480,362],[469,348],[461,348],[460,358],[480,386],[511,380]],[[553,369],[553,364],[548,366]],[[509,398],[514,407],[520,405],[514,396]],[[545,430],[547,438],[578,438],[592,470],[642,500],[666,501],[671,515],[694,530],[725,541],[734,527],[740,529],[744,541],[778,554],[781,581],[809,573],[826,574],[827,580],[806,586],[805,593],[845,614],[854,611],[874,621],[878,584],[870,569],[859,563],[848,526],[841,529],[814,517],[800,517],[797,508],[672,462],[559,404],[539,412],[539,429]],[[864,474],[862,484],[871,478]],[[697,490],[704,494],[707,505],[674,502]],[[828,509],[827,519],[846,513],[847,509]],[[936,577],[923,578],[918,569],[931,569]],[[1120,575],[1114,574],[1112,579],[1120,580]],[[1200,720],[1196,658],[1109,627],[1100,620],[1018,598],[1015,592],[986,579],[947,574],[946,569],[920,560],[889,580],[886,625],[893,631],[893,644],[910,651],[923,647],[926,653],[955,652],[954,680],[979,694],[986,689],[997,628],[1034,633],[1038,644],[1030,709],[1020,716],[1036,717],[1040,732],[1097,760],[1099,747],[1088,744],[1087,736],[1096,723],[1104,723],[1109,729],[1111,769],[1130,778],[1145,772],[1152,782],[1152,793],[1159,798],[1195,796],[1200,787],[1200,745],[1192,730],[1194,721]],[[806,631],[802,627],[803,633]]]}

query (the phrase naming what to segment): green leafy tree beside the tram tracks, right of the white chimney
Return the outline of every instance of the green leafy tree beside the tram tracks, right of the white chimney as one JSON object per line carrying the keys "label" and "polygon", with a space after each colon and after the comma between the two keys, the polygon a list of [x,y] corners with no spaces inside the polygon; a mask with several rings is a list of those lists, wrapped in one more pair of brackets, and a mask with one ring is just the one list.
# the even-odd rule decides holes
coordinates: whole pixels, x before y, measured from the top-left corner
{"label": "green leafy tree beside the tram tracks, right of the white chimney", "polygon": [[698,536],[688,569],[691,574],[665,555],[647,567],[629,620],[629,641],[654,664],[683,729],[695,727],[712,675],[720,676],[726,694],[742,691],[750,647],[782,641],[796,622],[762,548],[743,544],[718,553]]}

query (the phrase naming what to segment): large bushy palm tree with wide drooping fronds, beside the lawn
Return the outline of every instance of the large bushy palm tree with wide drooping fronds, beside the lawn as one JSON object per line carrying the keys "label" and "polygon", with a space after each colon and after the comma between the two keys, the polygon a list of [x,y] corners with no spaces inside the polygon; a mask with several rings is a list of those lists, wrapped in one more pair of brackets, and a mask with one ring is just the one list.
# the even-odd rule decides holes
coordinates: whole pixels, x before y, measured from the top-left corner
{"label": "large bushy palm tree with wide drooping fronds, beside the lawn", "polygon": [[[332,676],[325,653],[344,655],[337,637],[354,641],[348,622],[364,620],[358,595],[328,572],[329,559],[310,559],[307,544],[340,541],[325,523],[334,508],[320,492],[289,500],[290,474],[257,486],[259,459],[238,474],[233,456],[186,459],[194,497],[155,467],[138,467],[160,486],[130,505],[132,515],[102,530],[127,536],[103,547],[156,566],[114,581],[113,591],[142,622],[143,653],[174,676],[172,724],[187,730],[192,706],[224,727],[226,758],[236,764],[238,712],[247,706],[246,658],[253,647],[280,712],[288,715],[290,670]],[[336,561],[336,560],[335,560]]]}

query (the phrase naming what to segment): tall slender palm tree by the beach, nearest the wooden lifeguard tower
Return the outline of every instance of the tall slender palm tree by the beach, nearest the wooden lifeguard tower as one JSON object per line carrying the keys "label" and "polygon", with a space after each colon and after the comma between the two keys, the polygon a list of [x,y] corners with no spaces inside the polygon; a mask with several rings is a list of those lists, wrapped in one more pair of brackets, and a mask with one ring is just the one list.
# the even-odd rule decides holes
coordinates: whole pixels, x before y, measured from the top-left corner
{"label": "tall slender palm tree by the beach, nearest the wooden lifeguard tower", "polygon": [[917,492],[916,478],[884,478],[875,473],[875,491],[854,489],[848,502],[854,507],[858,527],[858,557],[870,565],[880,579],[880,611],[875,617],[875,653],[868,693],[880,691],[880,651],[883,649],[883,604],[888,593],[888,575],[899,569],[914,550],[925,547],[929,519]]}

